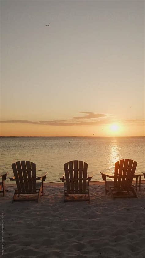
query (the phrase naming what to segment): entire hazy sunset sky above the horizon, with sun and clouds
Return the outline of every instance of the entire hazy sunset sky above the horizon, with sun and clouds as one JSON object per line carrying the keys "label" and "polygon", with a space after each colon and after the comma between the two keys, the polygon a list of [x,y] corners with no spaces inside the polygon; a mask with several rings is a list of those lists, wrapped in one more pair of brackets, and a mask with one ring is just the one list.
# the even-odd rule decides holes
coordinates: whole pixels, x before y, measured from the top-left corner
{"label": "entire hazy sunset sky above the horizon, with sun and clouds", "polygon": [[144,1],[1,0],[1,135],[143,136]]}

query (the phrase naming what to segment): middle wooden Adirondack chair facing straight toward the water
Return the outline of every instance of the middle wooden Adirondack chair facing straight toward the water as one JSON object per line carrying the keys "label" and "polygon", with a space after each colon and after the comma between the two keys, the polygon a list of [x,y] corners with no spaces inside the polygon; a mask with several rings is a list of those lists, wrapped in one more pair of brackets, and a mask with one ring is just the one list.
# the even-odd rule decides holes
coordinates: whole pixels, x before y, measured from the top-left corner
{"label": "middle wooden Adirondack chair facing straight toward the water", "polygon": [[[88,164],[83,161],[69,161],[64,164],[64,173],[59,173],[59,178],[64,182],[64,202],[67,195],[88,195],[86,201],[90,202],[89,181],[93,177],[93,173],[87,173]],[[70,201],[74,201],[70,200]]]}

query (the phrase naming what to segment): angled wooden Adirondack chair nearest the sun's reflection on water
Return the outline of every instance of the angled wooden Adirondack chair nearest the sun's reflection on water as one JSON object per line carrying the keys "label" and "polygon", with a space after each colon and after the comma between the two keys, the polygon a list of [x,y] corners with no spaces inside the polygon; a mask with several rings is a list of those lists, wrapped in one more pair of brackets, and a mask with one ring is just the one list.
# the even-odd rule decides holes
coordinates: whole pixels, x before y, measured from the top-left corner
{"label": "angled wooden Adirondack chair nearest the sun's reflection on water", "polygon": [[[103,173],[102,178],[105,180],[105,193],[108,191],[112,198],[117,197],[136,197],[136,191],[132,186],[132,179],[136,170],[137,162],[132,159],[122,159],[115,163],[114,176]],[[114,178],[114,181],[106,181],[106,177]],[[133,195],[130,195],[130,191]]]}

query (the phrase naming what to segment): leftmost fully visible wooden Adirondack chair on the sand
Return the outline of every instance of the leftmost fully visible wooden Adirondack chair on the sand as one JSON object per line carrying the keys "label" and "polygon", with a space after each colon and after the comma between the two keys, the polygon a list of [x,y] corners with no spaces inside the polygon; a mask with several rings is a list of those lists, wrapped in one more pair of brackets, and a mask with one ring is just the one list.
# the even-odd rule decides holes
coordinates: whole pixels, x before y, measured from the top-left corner
{"label": "leftmost fully visible wooden Adirondack chair on the sand", "polygon": [[[30,161],[17,161],[12,164],[12,169],[14,177],[10,180],[15,180],[17,184],[17,189],[13,195],[13,201],[21,200],[35,200],[35,199],[16,199],[17,195],[20,194],[38,194],[37,202],[39,201],[40,195],[44,195],[43,181],[46,179],[46,172],[43,172],[40,176],[36,177],[36,165]],[[36,180],[41,180],[42,182],[36,183]]]}

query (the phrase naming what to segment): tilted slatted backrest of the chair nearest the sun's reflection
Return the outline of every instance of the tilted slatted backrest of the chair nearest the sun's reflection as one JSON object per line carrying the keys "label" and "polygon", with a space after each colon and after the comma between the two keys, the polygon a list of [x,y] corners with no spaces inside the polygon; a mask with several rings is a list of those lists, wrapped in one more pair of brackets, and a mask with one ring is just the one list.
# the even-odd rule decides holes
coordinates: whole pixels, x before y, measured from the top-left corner
{"label": "tilted slatted backrest of the chair nearest the sun's reflection", "polygon": [[131,159],[122,159],[115,163],[114,191],[128,191],[132,185],[137,162]]}

